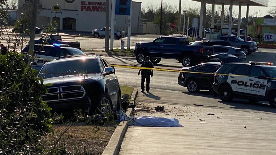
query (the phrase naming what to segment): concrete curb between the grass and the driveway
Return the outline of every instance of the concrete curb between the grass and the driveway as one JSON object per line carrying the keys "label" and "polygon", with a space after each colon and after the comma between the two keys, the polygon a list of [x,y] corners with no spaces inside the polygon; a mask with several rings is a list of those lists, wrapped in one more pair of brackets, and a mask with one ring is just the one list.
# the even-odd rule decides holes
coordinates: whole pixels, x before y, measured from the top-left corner
{"label": "concrete curb between the grass and the driveway", "polygon": [[[134,88],[132,95],[131,95],[131,99],[130,102],[131,104],[135,104],[135,99],[137,97],[138,94],[138,90],[137,88]],[[128,116],[131,116],[133,113],[134,108],[131,108],[131,110],[127,111],[126,114]],[[124,139],[124,135],[127,132],[127,126],[128,126],[128,122],[127,121],[123,121],[121,122],[118,127],[116,127],[113,135],[111,136],[106,148],[104,149],[104,152],[102,153],[102,155],[117,155],[119,154],[123,139]]]}

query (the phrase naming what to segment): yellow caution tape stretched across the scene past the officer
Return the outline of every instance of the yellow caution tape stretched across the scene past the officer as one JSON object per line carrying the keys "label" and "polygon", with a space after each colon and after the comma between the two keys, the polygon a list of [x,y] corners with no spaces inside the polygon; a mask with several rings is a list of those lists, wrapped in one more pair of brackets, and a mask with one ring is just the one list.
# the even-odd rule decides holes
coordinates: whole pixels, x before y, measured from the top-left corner
{"label": "yellow caution tape stretched across the scene past the officer", "polygon": [[[226,76],[246,76],[246,75],[235,75],[235,74],[221,74],[221,73],[208,73],[208,72],[196,72],[196,71],[179,71],[175,69],[161,69],[161,68],[149,68],[149,67],[136,67],[136,66],[127,66],[127,65],[113,65],[110,64],[112,67],[121,67],[121,68],[132,68],[132,69],[149,69],[149,70],[156,70],[156,71],[171,71],[171,72],[181,72],[181,73],[197,73],[197,74],[210,74],[210,75],[226,75]],[[251,76],[251,77],[258,77],[258,76]],[[276,78],[265,77],[269,79],[276,80]]]}

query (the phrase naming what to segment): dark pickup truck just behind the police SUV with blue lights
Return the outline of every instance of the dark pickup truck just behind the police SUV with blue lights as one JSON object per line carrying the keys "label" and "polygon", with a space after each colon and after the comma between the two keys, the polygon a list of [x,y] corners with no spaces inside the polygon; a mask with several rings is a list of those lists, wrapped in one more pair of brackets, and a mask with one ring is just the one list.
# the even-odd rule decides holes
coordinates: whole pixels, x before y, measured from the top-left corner
{"label": "dark pickup truck just behind the police SUV with blue lights", "polygon": [[36,39],[34,40],[34,44],[66,44],[69,45],[69,47],[81,49],[81,44],[79,42],[62,41],[61,36],[56,34],[45,35],[39,39]]}

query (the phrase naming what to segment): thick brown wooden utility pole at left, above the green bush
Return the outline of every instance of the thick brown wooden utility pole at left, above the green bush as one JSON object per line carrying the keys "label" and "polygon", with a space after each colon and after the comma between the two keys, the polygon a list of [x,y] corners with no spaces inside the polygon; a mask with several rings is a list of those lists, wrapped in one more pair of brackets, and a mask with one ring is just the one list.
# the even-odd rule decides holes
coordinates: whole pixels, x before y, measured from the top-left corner
{"label": "thick brown wooden utility pole at left, above the green bush", "polygon": [[29,55],[34,55],[34,36],[35,36],[35,26],[37,24],[37,4],[38,0],[33,0],[32,3],[32,15],[30,18],[31,24],[30,24],[30,45],[29,45]]}

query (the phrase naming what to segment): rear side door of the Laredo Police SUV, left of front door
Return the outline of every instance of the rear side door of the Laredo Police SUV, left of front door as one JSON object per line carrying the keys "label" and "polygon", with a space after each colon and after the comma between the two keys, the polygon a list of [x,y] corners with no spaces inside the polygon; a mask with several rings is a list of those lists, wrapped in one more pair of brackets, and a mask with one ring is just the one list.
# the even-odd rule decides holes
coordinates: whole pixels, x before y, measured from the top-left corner
{"label": "rear side door of the Laredo Police SUV, left of front door", "polygon": [[235,92],[246,94],[250,82],[248,81],[248,65],[238,65],[230,75],[228,75],[227,82]]}

